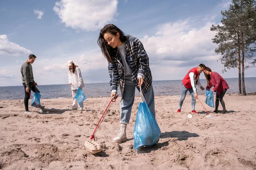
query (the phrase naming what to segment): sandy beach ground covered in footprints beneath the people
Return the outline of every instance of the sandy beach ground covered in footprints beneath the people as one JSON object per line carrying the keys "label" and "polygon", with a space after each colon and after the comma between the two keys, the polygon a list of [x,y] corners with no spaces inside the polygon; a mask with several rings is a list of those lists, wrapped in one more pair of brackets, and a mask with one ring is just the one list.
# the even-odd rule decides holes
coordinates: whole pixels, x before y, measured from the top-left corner
{"label": "sandy beach ground covered in footprints beneath the people", "polygon": [[[256,170],[256,95],[226,94],[228,113],[212,113],[196,102],[198,115],[187,118],[191,97],[176,113],[180,96],[155,96],[160,140],[152,147],[134,150],[133,130],[140,102],[136,96],[128,141],[113,144],[119,132],[120,97],[111,106],[95,137],[103,151],[89,153],[89,140],[110,98],[88,98],[84,111],[72,111],[72,99],[41,99],[43,113],[23,99],[0,100],[0,169],[3,170]],[[31,100],[29,100],[30,105]],[[221,105],[219,110],[221,110]]]}

